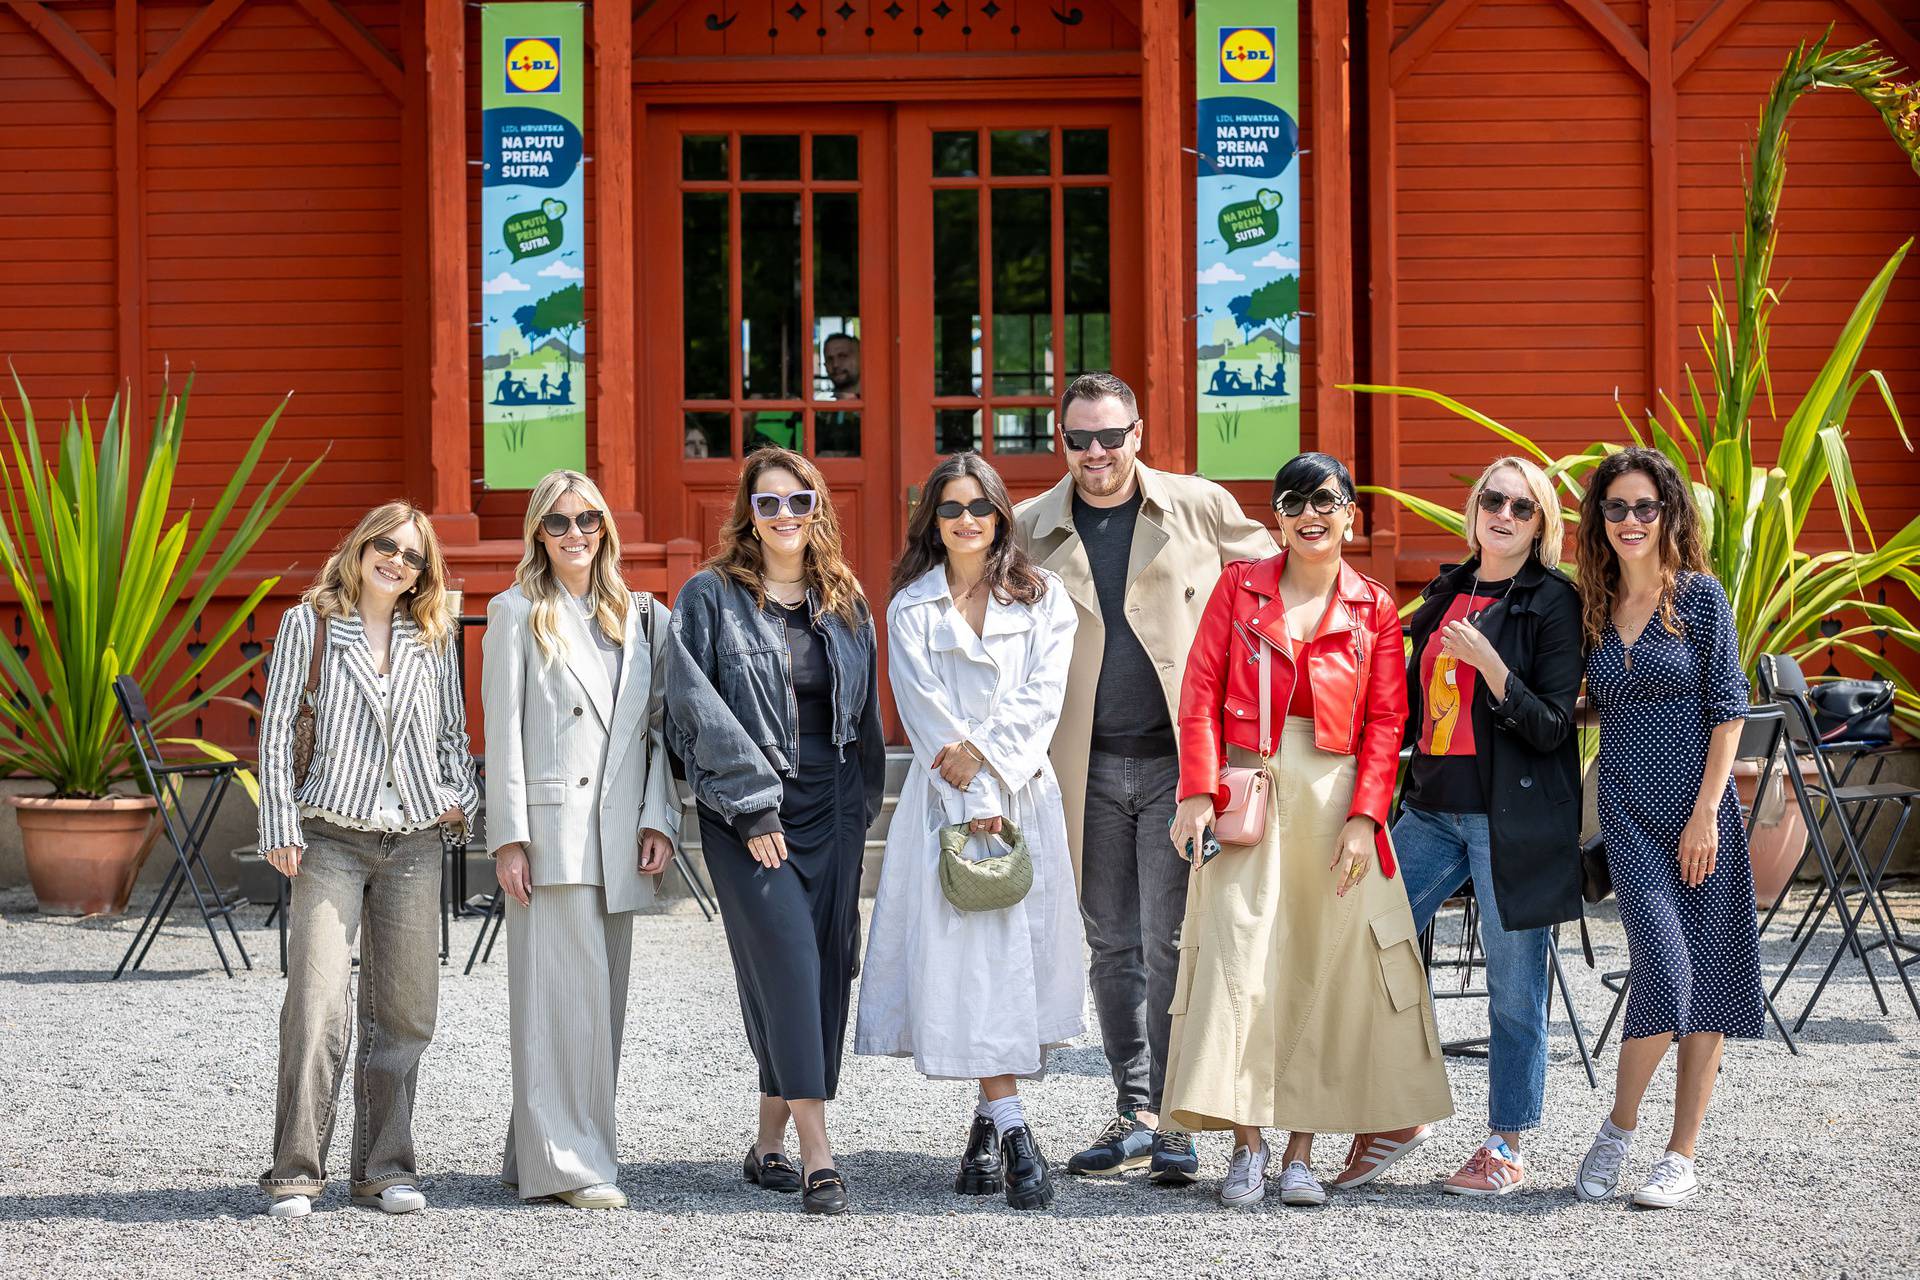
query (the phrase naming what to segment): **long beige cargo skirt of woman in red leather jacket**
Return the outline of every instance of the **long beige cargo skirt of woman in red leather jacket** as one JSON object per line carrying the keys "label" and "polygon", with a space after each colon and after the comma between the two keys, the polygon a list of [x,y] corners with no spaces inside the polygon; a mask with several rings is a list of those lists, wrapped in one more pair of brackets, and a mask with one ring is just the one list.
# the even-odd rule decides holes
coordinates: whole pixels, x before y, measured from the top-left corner
{"label": "long beige cargo skirt of woman in red leather jacket", "polygon": [[[1229,748],[1229,764],[1260,756]],[[1190,871],[1165,1111],[1185,1130],[1354,1134],[1453,1113],[1400,875],[1334,896],[1354,756],[1288,718],[1267,762],[1267,837]]]}

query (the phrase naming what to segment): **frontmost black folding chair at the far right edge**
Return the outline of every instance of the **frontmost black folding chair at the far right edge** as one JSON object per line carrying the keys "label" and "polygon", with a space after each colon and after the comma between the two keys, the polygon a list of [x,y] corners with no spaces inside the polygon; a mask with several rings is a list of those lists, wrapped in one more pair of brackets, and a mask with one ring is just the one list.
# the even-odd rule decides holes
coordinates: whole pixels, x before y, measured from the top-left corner
{"label": "frontmost black folding chair at the far right edge", "polygon": [[[1812,994],[1807,998],[1807,1007],[1793,1019],[1793,1031],[1807,1025],[1814,1006],[1820,1004],[1820,996],[1826,994],[1836,969],[1839,969],[1841,958],[1849,954],[1860,961],[1880,1011],[1887,1013],[1887,998],[1880,990],[1880,977],[1874,973],[1870,958],[1874,950],[1887,952],[1893,973],[1907,990],[1907,1002],[1912,1006],[1914,1015],[1920,1015],[1920,994],[1914,992],[1912,977],[1907,973],[1908,965],[1920,961],[1920,944],[1903,938],[1899,927],[1889,923],[1893,912],[1884,902],[1880,887],[1882,875],[1893,860],[1893,850],[1907,831],[1907,821],[1912,818],[1912,804],[1920,796],[1920,789],[1880,781],[1851,787],[1839,785],[1834,779],[1826,752],[1820,750],[1820,731],[1812,714],[1807,676],[1801,672],[1799,662],[1788,654],[1770,652],[1761,654],[1759,666],[1761,687],[1770,691],[1786,708],[1788,779],[1793,783],[1793,798],[1801,808],[1801,818],[1807,821],[1807,846],[1818,860],[1820,875],[1826,881],[1820,910],[1801,933],[1799,944],[1788,958],[1788,965],[1774,983],[1772,994],[1780,994],[1799,965],[1801,956],[1812,944],[1820,925],[1826,923],[1828,913],[1836,912],[1839,917],[1839,944],[1834,948],[1834,956],[1828,960],[1826,971],[1814,984]],[[1801,768],[1801,758],[1811,768]],[[1887,806],[1895,808],[1899,816],[1887,833],[1885,848],[1874,860],[1862,850],[1862,841],[1874,818]],[[1839,848],[1834,846],[1836,839]],[[1847,902],[1849,883],[1859,885],[1859,906],[1849,906]],[[1868,915],[1874,917],[1872,933],[1862,929]]]}

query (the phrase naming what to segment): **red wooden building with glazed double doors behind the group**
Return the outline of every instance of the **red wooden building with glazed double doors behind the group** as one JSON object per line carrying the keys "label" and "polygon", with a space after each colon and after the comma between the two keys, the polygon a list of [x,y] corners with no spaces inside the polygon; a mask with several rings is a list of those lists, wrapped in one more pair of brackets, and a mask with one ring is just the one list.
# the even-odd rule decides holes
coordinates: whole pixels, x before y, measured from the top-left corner
{"label": "red wooden building with glazed double doors behind the group", "polygon": [[[1786,52],[1837,23],[1920,67],[1914,0],[1300,8],[1304,441],[1450,503],[1494,441],[1336,384],[1434,386],[1557,445],[1617,438],[1615,399],[1640,415],[1697,351]],[[1058,478],[1060,388],[1035,370],[1075,368],[1089,326],[1142,391],[1152,461],[1192,468],[1190,10],[588,10],[588,455],[639,585],[691,572],[762,413],[831,455],[881,583],[941,447],[979,439],[1018,493]],[[516,557],[524,493],[478,484],[478,27],[463,0],[0,0],[0,355],[42,416],[117,386],[150,411],[169,361],[196,368],[202,495],[294,390],[275,453],[328,457],[257,566],[284,593],[390,495],[434,512],[472,597]],[[1859,102],[1797,111],[1784,226],[1774,357],[1797,388],[1920,230],[1920,180]],[[996,286],[1046,359],[989,338],[979,386],[954,380],[947,320],[993,334]],[[768,290],[806,319],[772,388],[728,340]],[[851,403],[818,349],[847,317]],[[1920,405],[1914,271],[1868,363]],[[1912,459],[1878,405],[1855,426],[1876,528],[1895,528],[1920,507]],[[1263,486],[1240,487],[1258,509]],[[1390,505],[1363,532],[1361,560],[1407,589],[1453,551]]]}

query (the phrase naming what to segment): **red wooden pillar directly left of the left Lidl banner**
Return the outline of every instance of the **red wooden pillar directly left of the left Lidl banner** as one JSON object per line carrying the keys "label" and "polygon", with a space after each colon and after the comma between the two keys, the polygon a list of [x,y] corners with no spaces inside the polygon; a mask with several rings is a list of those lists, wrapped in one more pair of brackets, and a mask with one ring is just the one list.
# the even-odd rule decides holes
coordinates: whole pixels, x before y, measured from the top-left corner
{"label": "red wooden pillar directly left of the left Lidl banner", "polygon": [[426,510],[451,543],[480,541],[472,509],[467,390],[467,6],[426,0]]}

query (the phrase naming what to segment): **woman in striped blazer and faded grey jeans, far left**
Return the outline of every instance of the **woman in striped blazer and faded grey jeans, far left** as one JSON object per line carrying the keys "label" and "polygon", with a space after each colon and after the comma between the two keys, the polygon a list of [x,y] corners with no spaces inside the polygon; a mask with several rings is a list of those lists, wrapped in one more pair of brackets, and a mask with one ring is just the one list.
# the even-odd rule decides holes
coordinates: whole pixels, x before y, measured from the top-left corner
{"label": "woman in striped blazer and faded grey jeans, far left", "polygon": [[[426,1207],[413,1088],[440,1007],[440,829],[463,825],[478,798],[445,581],[426,516],[386,503],[334,549],[273,647],[259,848],[294,883],[273,1167],[261,1176],[273,1217],[307,1215],[326,1186],[353,1036],[353,1203]],[[296,785],[294,720],[317,637],[313,764]]]}

